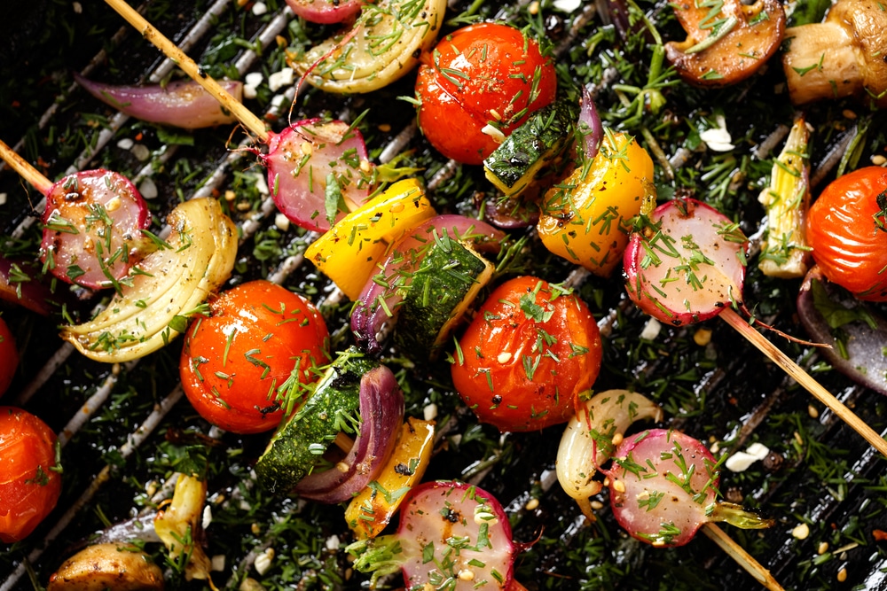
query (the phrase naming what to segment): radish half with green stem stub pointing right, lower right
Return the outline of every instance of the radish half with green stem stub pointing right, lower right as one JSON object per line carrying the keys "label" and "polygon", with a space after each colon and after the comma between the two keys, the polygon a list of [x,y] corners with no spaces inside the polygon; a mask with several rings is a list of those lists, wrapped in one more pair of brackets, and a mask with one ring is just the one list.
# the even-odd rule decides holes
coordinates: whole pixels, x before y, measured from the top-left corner
{"label": "radish half with green stem stub pointing right, lower right", "polygon": [[728,502],[715,502],[718,462],[703,444],[669,429],[623,439],[607,474],[619,525],[653,546],[683,546],[699,528],[726,521],[742,529],[773,525]]}

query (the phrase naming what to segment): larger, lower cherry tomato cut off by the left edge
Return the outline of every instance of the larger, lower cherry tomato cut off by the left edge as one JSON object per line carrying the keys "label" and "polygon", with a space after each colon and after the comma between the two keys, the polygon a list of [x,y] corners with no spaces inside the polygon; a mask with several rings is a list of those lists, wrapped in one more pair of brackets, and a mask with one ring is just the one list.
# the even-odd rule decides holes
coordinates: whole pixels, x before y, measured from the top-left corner
{"label": "larger, lower cherry tomato cut off by the left edge", "polygon": [[55,433],[25,410],[0,407],[0,541],[26,538],[60,493]]}

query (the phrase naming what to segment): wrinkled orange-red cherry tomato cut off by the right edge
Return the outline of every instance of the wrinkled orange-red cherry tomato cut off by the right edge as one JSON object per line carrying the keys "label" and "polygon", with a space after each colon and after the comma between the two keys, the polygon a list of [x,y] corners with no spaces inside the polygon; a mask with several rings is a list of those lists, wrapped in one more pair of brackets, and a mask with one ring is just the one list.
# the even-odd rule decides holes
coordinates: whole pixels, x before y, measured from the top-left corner
{"label": "wrinkled orange-red cherry tomato cut off by the right edge", "polygon": [[829,281],[887,301],[887,169],[860,168],[830,183],[810,208],[807,242]]}

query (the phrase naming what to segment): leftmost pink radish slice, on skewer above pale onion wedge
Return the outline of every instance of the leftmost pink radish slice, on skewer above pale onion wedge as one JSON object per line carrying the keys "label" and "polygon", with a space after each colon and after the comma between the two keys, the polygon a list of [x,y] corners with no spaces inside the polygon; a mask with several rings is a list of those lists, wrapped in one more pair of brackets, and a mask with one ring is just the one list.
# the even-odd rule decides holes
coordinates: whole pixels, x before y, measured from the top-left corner
{"label": "leftmost pink radish slice, on skewer above pale onion wedge", "polygon": [[68,175],[46,195],[41,261],[69,284],[116,286],[137,262],[149,223],[145,200],[126,177],[101,168]]}

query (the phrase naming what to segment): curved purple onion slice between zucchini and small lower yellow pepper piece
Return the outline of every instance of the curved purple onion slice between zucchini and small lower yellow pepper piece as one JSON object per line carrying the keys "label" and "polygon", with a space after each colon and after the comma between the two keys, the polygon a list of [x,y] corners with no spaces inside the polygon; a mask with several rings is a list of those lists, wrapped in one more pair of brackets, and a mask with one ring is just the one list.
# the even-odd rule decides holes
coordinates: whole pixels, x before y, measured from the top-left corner
{"label": "curved purple onion slice between zucchini and small lower yellow pepper piece", "polygon": [[349,454],[334,468],[299,481],[294,492],[312,501],[350,501],[379,473],[404,422],[404,393],[394,373],[381,365],[360,378],[360,432]]}

